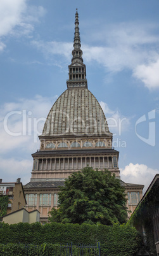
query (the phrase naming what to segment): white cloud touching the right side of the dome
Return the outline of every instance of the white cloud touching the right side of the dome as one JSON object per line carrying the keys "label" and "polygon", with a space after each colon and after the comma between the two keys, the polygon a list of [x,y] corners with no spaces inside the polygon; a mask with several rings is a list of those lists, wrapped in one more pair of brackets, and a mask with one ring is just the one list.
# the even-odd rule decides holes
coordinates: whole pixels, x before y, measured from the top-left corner
{"label": "white cloud touching the right side of the dome", "polygon": [[100,101],[99,104],[106,115],[108,127],[114,135],[117,134],[120,136],[122,132],[128,131],[130,127],[129,117],[124,117],[119,110],[110,110],[108,104],[104,103],[103,101]]}

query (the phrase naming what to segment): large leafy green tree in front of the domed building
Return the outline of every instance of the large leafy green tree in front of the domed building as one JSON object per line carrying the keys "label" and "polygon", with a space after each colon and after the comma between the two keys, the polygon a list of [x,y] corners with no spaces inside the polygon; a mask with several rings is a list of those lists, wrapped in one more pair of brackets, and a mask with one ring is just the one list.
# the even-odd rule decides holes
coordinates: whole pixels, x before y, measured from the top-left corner
{"label": "large leafy green tree in front of the domed building", "polygon": [[73,224],[123,224],[127,220],[125,188],[110,171],[85,167],[60,187],[58,210],[49,212],[50,222]]}

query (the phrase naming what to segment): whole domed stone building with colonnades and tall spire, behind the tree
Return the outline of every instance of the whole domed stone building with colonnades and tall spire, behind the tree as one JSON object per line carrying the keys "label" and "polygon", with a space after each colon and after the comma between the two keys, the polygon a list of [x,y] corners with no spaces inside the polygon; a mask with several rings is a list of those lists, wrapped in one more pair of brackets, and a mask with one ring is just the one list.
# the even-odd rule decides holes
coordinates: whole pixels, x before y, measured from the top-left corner
{"label": "whole domed stone building with colonnades and tall spire, behind the tree", "polygon": [[[87,89],[86,65],[80,49],[79,15],[75,13],[72,63],[68,66],[67,90],[53,104],[39,139],[32,178],[25,185],[27,210],[39,210],[41,222],[57,206],[58,186],[70,174],[87,165],[108,169],[120,179],[119,152],[112,148],[113,134],[98,100]],[[121,181],[128,192],[128,207],[134,211],[143,195],[143,185]]]}

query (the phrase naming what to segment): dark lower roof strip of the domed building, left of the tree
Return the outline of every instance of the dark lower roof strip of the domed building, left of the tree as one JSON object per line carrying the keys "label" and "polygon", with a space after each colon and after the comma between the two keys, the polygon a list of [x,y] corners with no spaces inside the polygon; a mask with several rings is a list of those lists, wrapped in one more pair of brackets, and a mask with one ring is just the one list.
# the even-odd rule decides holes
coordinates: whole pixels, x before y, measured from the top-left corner
{"label": "dark lower roof strip of the domed building, left of the tree", "polygon": [[64,186],[65,181],[32,181],[27,183],[25,188],[57,188],[59,186]]}

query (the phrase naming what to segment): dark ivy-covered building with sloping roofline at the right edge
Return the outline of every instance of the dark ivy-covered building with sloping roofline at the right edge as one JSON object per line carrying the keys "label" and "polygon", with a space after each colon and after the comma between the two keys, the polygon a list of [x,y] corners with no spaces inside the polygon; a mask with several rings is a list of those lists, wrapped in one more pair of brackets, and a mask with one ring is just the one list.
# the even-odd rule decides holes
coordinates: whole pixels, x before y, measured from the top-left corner
{"label": "dark ivy-covered building with sloping roofline at the right edge", "polygon": [[[144,244],[148,245],[150,251],[153,247],[156,248],[155,255],[159,255],[159,174],[155,175],[137,205],[134,216],[132,215],[132,223],[143,234]],[[153,239],[151,239],[151,234],[153,234]]]}

